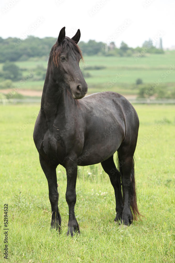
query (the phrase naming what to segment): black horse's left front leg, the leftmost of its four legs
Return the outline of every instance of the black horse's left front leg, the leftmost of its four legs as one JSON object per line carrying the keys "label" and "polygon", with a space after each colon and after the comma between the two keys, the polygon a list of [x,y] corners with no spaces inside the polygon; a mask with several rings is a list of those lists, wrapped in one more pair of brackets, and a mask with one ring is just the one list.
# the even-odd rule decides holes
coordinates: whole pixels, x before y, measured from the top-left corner
{"label": "black horse's left front leg, the leftmost of its four legs", "polygon": [[56,228],[61,231],[61,216],[58,210],[58,198],[59,194],[57,191],[57,178],[56,178],[56,167],[51,166],[45,161],[45,159],[39,155],[41,168],[43,169],[47,178],[49,186],[49,200],[52,209],[52,221],[51,228]]}

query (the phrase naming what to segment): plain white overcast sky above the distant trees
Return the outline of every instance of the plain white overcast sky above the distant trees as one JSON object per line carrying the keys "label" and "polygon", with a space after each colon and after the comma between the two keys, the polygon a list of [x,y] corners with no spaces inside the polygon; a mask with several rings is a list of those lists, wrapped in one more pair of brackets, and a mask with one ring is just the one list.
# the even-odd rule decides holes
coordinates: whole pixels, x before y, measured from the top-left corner
{"label": "plain white overcast sky above the distant trees", "polygon": [[137,47],[162,37],[163,48],[169,48],[175,45],[174,10],[174,0],[1,0],[0,36],[58,37],[65,26],[66,36],[79,28],[85,42],[114,41],[119,47],[124,41]]}

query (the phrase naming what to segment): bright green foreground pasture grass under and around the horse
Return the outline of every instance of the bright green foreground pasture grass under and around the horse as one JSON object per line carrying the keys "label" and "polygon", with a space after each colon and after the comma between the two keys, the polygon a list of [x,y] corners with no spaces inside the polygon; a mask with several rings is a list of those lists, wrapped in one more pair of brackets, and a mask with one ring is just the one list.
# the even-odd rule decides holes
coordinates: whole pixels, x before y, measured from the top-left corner
{"label": "bright green foreground pasture grass under and around the horse", "polygon": [[66,173],[60,165],[62,234],[49,230],[48,185],[32,138],[39,108],[36,104],[0,105],[0,262],[7,262],[3,259],[3,211],[8,204],[8,262],[173,263],[175,106],[135,105],[140,119],[135,170],[142,221],[127,228],[114,224],[115,198],[108,175],[100,164],[79,167],[75,214],[81,235],[73,238],[66,236]]}

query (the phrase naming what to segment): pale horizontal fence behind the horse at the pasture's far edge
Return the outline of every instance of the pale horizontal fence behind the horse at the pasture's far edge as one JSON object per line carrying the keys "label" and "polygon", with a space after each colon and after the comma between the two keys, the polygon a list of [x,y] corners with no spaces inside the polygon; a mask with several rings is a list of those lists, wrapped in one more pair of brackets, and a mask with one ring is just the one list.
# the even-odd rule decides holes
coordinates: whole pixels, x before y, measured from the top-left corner
{"label": "pale horizontal fence behind the horse at the pasture's far edge", "polygon": [[[130,103],[135,104],[175,104],[175,99],[128,99]],[[16,103],[41,103],[41,99],[0,99],[0,103],[16,104]]]}

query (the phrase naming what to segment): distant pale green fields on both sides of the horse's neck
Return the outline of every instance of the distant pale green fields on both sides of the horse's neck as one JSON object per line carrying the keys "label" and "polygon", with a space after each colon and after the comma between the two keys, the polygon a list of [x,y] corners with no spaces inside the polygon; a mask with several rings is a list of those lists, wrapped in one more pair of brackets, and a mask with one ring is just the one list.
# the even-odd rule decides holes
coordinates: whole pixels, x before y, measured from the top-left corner
{"label": "distant pale green fields on both sides of the horse's neck", "polygon": [[[174,60],[174,51],[167,51],[165,54],[145,54],[145,56],[138,59],[135,59],[135,57],[85,56],[84,64],[80,63],[80,68],[85,74],[88,94],[105,89],[117,90],[122,95],[128,95],[138,93],[138,87],[135,85],[138,78],[141,78],[143,83],[150,84],[158,81],[158,79],[161,79],[164,84],[174,83],[175,70],[171,68],[172,71],[168,71],[174,65]],[[14,87],[19,85],[19,89],[43,89],[44,80],[33,81],[28,75],[32,71],[35,78],[37,65],[42,65],[46,69],[47,61],[34,58],[33,60],[15,62],[15,64],[23,69],[23,79],[14,82]],[[0,65],[0,69],[2,65]],[[88,67],[94,66],[103,66],[105,68],[87,70]],[[86,77],[87,73],[90,77]]]}

